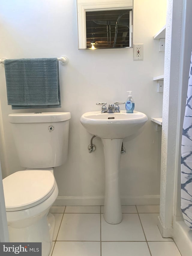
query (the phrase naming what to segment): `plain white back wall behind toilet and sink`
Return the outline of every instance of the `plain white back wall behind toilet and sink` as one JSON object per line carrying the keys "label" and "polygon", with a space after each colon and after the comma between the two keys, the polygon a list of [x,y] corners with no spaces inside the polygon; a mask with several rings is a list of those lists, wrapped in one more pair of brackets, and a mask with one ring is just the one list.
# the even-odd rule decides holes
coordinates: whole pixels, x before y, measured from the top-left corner
{"label": "plain white back wall behind toilet and sink", "polygon": [[[135,110],[146,113],[149,121],[143,131],[124,139],[127,153],[121,157],[121,195],[125,203],[158,203],[161,133],[155,131],[150,119],[162,116],[162,93],[157,93],[152,77],[163,74],[164,53],[158,52],[158,40],[153,40],[153,35],[165,22],[166,0],[134,0],[134,43],[144,44],[144,60],[133,61],[133,49],[78,50],[75,0],[1,3],[0,58],[66,55],[69,59],[67,66],[60,66],[62,108],[53,109],[71,113],[68,159],[55,168],[59,196],[103,197],[101,139],[93,140],[96,151],[89,154],[87,147],[92,135],[85,131],[79,119],[82,113],[100,110],[96,102],[125,101],[126,91],[132,90]],[[18,111],[7,106],[2,66],[0,84],[1,130],[5,142],[1,161],[3,176],[7,176],[22,167],[7,120],[9,113]],[[124,107],[121,105],[121,109]]]}

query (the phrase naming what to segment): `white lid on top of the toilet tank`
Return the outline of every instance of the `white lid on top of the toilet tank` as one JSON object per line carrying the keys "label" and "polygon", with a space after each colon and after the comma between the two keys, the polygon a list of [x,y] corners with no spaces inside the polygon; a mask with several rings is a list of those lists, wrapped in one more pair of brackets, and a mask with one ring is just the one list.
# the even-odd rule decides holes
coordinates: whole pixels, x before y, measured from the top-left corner
{"label": "white lid on top of the toilet tank", "polygon": [[50,123],[62,122],[71,118],[70,112],[35,112],[9,114],[10,123]]}

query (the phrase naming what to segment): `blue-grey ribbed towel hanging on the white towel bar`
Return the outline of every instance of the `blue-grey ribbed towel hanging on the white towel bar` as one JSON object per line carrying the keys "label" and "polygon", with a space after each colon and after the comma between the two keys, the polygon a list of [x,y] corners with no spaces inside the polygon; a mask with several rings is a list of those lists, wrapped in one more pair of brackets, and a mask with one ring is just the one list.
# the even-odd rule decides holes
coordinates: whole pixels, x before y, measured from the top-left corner
{"label": "blue-grey ribbed towel hanging on the white towel bar", "polygon": [[12,109],[61,107],[57,58],[6,59],[4,67]]}

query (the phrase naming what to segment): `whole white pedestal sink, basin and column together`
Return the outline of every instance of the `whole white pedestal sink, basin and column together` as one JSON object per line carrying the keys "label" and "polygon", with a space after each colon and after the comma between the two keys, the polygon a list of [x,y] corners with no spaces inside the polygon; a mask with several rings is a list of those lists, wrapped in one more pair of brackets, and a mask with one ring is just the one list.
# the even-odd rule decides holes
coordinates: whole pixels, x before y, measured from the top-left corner
{"label": "whole white pedestal sink, basin and column together", "polygon": [[110,224],[122,221],[121,200],[119,195],[119,164],[123,138],[134,134],[147,121],[144,113],[84,113],[80,122],[85,129],[100,137],[105,158],[105,202],[104,218]]}

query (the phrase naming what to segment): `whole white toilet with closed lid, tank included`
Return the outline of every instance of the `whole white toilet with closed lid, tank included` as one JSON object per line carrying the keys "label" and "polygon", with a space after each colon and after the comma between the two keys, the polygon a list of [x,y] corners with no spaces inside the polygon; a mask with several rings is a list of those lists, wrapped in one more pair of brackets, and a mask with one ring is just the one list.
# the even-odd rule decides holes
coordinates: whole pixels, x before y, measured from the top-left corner
{"label": "whole white toilet with closed lid, tank included", "polygon": [[9,114],[21,166],[3,179],[10,242],[52,245],[55,218],[49,209],[58,196],[53,167],[67,160],[69,112]]}

